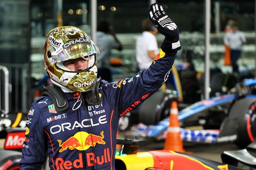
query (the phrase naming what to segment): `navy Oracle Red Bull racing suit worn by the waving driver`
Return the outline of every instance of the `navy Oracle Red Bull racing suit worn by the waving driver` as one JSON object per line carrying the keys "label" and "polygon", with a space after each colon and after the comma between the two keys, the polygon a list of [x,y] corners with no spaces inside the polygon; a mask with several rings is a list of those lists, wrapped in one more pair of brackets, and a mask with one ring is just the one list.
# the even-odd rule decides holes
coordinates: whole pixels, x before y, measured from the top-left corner
{"label": "navy Oracle Red Bull racing suit worn by the waving driver", "polygon": [[51,98],[37,98],[28,112],[20,169],[41,169],[47,155],[50,169],[115,169],[120,116],[163,85],[175,55],[160,50],[150,68],[134,77],[102,81],[99,105],[88,105],[80,93],[65,93],[69,109],[56,112]]}

